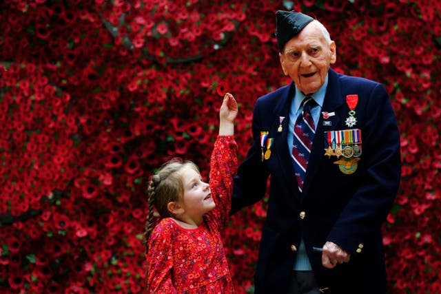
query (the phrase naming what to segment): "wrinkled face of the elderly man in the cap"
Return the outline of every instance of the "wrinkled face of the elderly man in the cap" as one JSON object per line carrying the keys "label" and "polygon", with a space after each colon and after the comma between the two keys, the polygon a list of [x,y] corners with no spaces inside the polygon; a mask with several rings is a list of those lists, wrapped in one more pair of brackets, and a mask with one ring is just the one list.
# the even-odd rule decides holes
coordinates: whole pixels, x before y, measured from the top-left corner
{"label": "wrinkled face of the elderly man in the cap", "polygon": [[279,58],[283,73],[303,94],[312,94],[325,83],[329,65],[336,62],[336,43],[326,41],[320,26],[311,21],[285,44]]}

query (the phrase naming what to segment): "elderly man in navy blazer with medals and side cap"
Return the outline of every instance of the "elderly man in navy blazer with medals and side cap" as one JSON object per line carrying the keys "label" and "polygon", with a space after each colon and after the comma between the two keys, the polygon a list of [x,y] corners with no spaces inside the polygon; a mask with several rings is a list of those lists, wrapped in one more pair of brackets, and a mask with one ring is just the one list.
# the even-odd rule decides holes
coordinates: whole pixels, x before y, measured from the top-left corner
{"label": "elderly man in navy blazer with medals and side cap", "polygon": [[381,227],[400,182],[400,135],[385,88],[330,68],[336,43],[316,19],[276,12],[292,83],[258,98],[254,143],[232,213],[265,196],[255,293],[386,292]]}

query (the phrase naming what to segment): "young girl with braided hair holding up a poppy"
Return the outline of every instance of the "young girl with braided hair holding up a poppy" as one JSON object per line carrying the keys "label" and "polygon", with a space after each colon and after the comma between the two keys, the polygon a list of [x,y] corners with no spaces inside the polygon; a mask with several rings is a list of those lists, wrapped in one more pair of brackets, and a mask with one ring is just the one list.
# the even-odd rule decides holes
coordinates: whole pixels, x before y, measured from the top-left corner
{"label": "young girl with braided hair holding up a poppy", "polygon": [[[170,160],[152,176],[144,242],[147,293],[234,293],[220,232],[229,216],[237,169],[232,94],[219,110],[209,183],[193,162]],[[154,227],[153,206],[159,222]]]}

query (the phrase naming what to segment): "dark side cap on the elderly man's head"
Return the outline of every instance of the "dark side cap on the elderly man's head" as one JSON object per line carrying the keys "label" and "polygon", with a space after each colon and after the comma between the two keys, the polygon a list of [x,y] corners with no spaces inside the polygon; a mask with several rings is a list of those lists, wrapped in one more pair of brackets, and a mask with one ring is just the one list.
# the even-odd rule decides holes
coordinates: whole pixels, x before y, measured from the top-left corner
{"label": "dark side cap on the elderly man's head", "polygon": [[283,46],[293,36],[296,36],[305,26],[313,21],[312,17],[301,12],[283,11],[278,10],[276,12],[276,38],[277,47],[280,52],[283,50]]}

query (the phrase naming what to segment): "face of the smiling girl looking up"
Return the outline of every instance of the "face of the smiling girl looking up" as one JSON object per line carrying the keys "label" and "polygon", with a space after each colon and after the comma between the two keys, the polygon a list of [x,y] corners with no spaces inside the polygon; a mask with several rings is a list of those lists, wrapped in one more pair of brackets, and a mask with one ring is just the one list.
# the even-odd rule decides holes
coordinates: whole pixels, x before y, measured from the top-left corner
{"label": "face of the smiling girl looking up", "polygon": [[196,220],[216,207],[209,185],[202,180],[198,171],[195,171],[192,167],[184,167],[181,176],[183,178],[184,195],[179,204],[185,210],[187,216]]}

